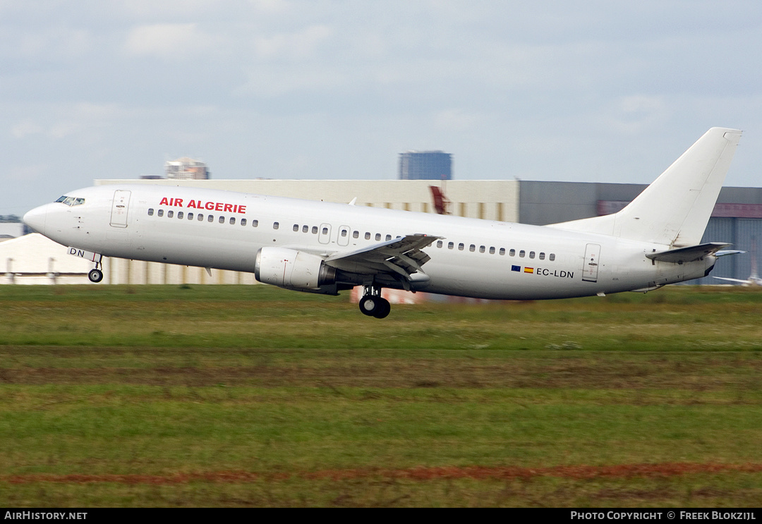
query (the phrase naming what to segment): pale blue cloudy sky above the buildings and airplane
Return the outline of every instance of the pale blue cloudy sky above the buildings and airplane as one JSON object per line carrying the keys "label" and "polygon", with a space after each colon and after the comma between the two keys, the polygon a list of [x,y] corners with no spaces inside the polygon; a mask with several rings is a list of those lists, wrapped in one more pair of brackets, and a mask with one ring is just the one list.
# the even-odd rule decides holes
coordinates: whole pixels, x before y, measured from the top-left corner
{"label": "pale blue cloudy sky above the buildings and airplane", "polygon": [[0,214],[190,156],[216,179],[647,184],[712,126],[760,187],[762,2],[0,0]]}

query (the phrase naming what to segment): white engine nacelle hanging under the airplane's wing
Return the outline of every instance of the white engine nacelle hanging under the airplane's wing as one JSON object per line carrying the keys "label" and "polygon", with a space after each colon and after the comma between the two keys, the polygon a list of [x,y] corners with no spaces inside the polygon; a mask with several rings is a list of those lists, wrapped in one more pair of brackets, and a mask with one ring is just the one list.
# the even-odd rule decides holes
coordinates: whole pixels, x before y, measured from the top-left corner
{"label": "white engine nacelle hanging under the airplane's wing", "polygon": [[257,251],[254,276],[273,286],[336,294],[336,270],[321,257],[287,248],[261,248]]}

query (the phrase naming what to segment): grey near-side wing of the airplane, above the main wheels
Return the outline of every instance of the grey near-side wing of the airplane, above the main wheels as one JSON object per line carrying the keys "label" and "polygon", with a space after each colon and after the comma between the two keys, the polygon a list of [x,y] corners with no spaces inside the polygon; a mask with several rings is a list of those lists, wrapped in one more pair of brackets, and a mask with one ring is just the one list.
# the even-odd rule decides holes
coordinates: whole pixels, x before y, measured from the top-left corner
{"label": "grey near-side wing of the airplane, above the main wheels", "polygon": [[357,251],[331,254],[325,264],[339,270],[360,274],[389,273],[402,276],[405,281],[420,280],[411,277],[413,273],[425,276],[421,266],[431,257],[421,251],[442,237],[422,234],[405,235],[379,244],[373,244]]}

